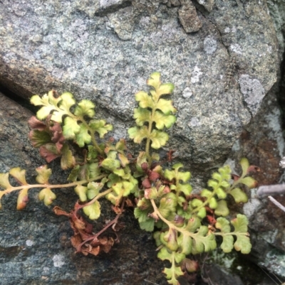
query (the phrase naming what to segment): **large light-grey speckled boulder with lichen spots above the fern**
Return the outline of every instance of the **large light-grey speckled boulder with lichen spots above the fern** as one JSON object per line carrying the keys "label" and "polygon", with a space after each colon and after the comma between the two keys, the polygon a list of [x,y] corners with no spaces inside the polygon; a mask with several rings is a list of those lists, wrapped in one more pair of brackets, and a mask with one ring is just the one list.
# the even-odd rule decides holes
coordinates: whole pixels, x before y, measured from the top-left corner
{"label": "large light-grey speckled boulder with lichen spots above the fern", "polygon": [[26,97],[54,88],[93,100],[118,138],[159,71],[179,110],[167,148],[201,173],[224,161],[279,60],[265,1],[200,2],[4,0],[0,82]]}

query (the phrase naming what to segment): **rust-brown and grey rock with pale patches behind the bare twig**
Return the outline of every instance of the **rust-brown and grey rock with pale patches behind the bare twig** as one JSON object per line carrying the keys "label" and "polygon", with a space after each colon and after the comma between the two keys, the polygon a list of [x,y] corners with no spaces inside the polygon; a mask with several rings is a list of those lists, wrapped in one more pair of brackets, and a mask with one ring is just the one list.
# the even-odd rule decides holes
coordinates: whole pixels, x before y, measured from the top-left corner
{"label": "rust-brown and grey rock with pale patches behind the bare twig", "polygon": [[[279,85],[274,85],[232,149],[232,161],[247,157],[251,164],[259,166],[260,171],[254,174],[254,178],[260,186],[284,183],[284,171],[279,161],[284,156],[285,141],[277,95]],[[237,164],[233,166],[237,170]],[[244,215],[249,219],[253,244],[251,258],[260,267],[284,279],[285,213],[271,203],[267,195],[261,198],[257,190],[255,188],[247,193],[249,202],[242,207]],[[285,205],[284,195],[274,195],[274,198]]]}

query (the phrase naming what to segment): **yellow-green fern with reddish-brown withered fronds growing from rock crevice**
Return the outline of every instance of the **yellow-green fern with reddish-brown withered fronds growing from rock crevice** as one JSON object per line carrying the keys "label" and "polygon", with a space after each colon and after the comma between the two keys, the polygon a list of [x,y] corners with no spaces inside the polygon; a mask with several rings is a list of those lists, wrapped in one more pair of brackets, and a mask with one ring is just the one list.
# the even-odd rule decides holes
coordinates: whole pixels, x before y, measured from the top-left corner
{"label": "yellow-green fern with reddish-brown withered fronds growing from rock crevice", "polygon": [[[169,136],[165,130],[175,124],[177,110],[171,100],[163,97],[173,92],[174,85],[162,84],[158,72],[150,75],[147,85],[151,88],[149,93],[140,91],[135,95],[139,104],[134,110],[136,126],[128,129],[130,139],[145,146],[136,158],[128,154],[125,139],[102,142],[103,136],[113,127],[103,119],[95,119],[93,102],[76,103],[71,93],[59,96],[53,90],[43,97],[31,97],[31,103],[40,107],[36,117],[28,121],[31,143],[48,163],[60,158],[61,168],[71,169],[68,182],[49,183],[52,170],[45,165],[36,168],[38,183],[28,184],[25,170],[12,168],[9,173],[0,173],[3,189],[0,198],[19,191],[17,209],[22,210],[31,188],[40,188],[38,198],[50,205],[56,199],[54,188],[73,187],[78,201],[71,212],[58,206],[53,210],[56,215],[68,217],[74,232],[71,243],[76,252],[86,255],[110,251],[118,240],[120,215],[126,205],[131,205],[142,230],[154,232],[157,256],[170,262],[170,267],[164,270],[168,283],[177,285],[180,276],[197,270],[197,263],[191,256],[214,250],[217,236],[222,237],[220,247],[224,252],[232,249],[244,254],[250,252],[247,217],[237,215],[227,220],[227,200],[232,196],[235,203],[247,202],[240,185],[249,188],[256,185],[248,176],[254,167],[243,158],[241,176],[232,176],[229,166],[219,168],[212,174],[208,187],[193,194],[190,172],[182,171],[182,163],[167,169],[163,166],[165,161],[151,151],[167,144]],[[74,152],[78,147],[81,151]],[[171,154],[170,151],[168,162]],[[18,185],[11,185],[10,176]],[[96,220],[101,214],[100,200],[103,198],[113,205],[116,216],[94,234],[81,209],[90,220]],[[107,234],[108,228],[114,230],[116,238]]]}

